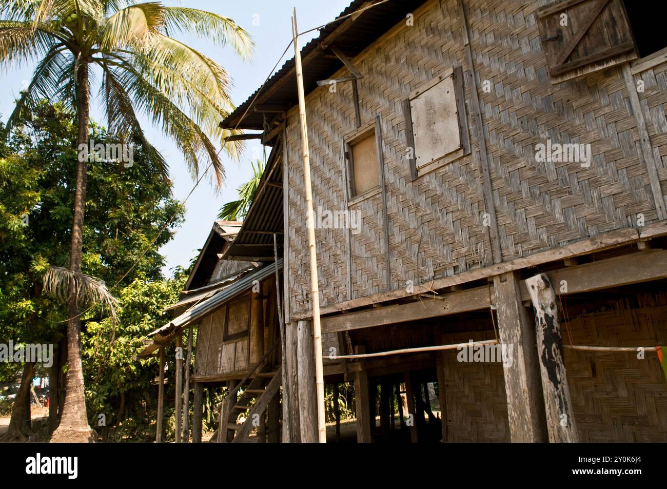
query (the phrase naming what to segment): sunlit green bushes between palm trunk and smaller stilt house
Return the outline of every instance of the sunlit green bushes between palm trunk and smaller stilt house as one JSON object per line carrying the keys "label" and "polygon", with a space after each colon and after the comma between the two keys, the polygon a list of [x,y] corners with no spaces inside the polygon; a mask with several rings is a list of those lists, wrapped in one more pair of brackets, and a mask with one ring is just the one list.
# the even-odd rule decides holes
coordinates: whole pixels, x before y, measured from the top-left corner
{"label": "sunlit green bushes between palm trunk and smaller stilt house", "polygon": [[[103,414],[110,441],[155,436],[148,420],[155,420],[157,386],[155,392],[146,386],[154,384],[158,362],[137,362],[135,356],[143,349],[141,338],[168,320],[163,308],[177,301],[185,280],[187,274],[152,282],[136,278],[119,294],[117,325],[110,318],[86,324],[82,350],[89,421],[97,427]],[[175,371],[172,357],[167,353],[168,372]]]}

